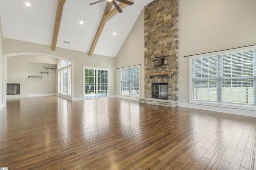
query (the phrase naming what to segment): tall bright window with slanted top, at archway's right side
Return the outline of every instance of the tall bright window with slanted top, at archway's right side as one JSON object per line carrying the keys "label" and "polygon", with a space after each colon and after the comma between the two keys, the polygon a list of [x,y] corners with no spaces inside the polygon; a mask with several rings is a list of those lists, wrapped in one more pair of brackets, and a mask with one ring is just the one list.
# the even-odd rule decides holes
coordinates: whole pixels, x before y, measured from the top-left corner
{"label": "tall bright window with slanted top, at archway's right side", "polygon": [[58,93],[71,96],[71,64],[63,60],[58,63]]}

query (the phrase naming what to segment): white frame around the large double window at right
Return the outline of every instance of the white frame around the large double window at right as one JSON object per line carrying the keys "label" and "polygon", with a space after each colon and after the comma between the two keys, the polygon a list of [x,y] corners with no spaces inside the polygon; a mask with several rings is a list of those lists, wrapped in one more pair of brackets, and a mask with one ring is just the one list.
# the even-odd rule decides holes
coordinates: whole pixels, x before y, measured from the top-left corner
{"label": "white frame around the large double window at right", "polygon": [[210,57],[215,55],[225,55],[228,53],[236,53],[240,51],[249,51],[256,50],[256,45],[251,47],[242,47],[237,49],[230,49],[225,51],[212,52],[207,54],[194,55],[189,57],[189,103],[190,104],[200,104],[206,106],[216,106],[216,107],[228,107],[234,109],[245,109],[245,110],[253,110],[256,111],[256,105],[254,104],[236,104],[236,103],[224,103],[224,102],[212,102],[212,101],[200,101],[193,100],[193,86],[192,86],[192,59],[202,58],[202,57]]}

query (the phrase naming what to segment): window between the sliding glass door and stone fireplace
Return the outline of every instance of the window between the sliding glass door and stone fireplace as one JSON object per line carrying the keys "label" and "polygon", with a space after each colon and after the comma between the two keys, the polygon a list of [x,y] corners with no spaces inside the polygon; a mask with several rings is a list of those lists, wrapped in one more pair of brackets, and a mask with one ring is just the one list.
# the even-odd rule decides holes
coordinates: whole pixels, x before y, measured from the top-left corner
{"label": "window between the sliding glass door and stone fireplace", "polygon": [[121,71],[121,93],[139,95],[139,67],[123,68]]}

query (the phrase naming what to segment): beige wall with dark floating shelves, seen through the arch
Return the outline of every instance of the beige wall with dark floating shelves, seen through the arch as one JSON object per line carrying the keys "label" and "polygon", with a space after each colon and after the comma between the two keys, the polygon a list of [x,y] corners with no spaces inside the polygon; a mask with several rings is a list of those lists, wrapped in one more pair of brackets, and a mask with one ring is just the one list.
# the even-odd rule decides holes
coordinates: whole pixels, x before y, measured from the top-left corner
{"label": "beige wall with dark floating shelves, seen through the arch", "polygon": [[[8,95],[7,98],[26,98],[28,94],[56,93],[56,70],[48,70],[44,67],[56,68],[57,59],[42,56],[14,56],[7,57],[7,83],[20,83],[20,95]],[[42,76],[29,78],[28,76]]]}

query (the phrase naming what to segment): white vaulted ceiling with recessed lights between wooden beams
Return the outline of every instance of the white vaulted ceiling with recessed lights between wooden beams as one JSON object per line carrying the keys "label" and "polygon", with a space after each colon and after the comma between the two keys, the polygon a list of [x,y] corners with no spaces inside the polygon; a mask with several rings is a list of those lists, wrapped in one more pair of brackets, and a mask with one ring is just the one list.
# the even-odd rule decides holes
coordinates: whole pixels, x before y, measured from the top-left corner
{"label": "white vaulted ceiling with recessed lights between wooden beams", "polygon": [[[88,52],[104,13],[106,2],[67,0],[62,13],[57,47]],[[153,0],[134,0],[109,20],[94,54],[116,57],[141,10]],[[30,3],[30,7],[26,6]],[[3,36],[51,45],[58,0],[0,0]],[[84,24],[81,25],[80,21]],[[113,35],[116,32],[116,35]],[[69,41],[70,44],[63,43]]]}

